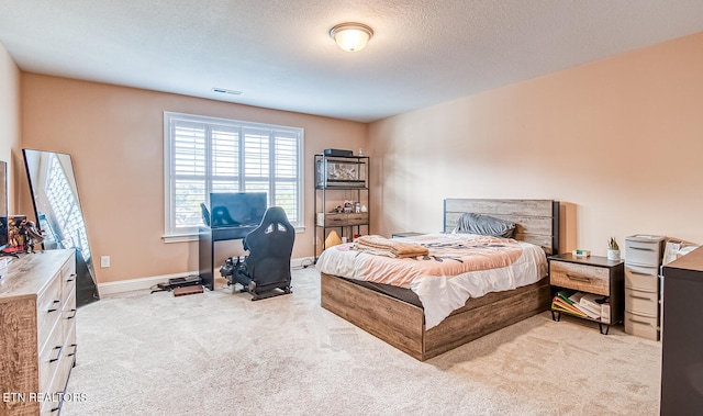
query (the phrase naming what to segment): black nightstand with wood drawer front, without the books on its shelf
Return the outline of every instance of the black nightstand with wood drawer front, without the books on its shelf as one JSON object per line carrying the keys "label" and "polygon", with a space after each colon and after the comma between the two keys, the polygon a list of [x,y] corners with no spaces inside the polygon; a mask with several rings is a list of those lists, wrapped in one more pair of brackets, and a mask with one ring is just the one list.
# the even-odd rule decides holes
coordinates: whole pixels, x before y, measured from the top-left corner
{"label": "black nightstand with wood drawer front, without the books on its shelf", "polygon": [[[555,307],[553,302],[551,318],[554,321],[560,321],[561,313],[578,316],[598,322],[601,334],[605,335],[607,335],[611,325],[623,322],[625,266],[622,260],[609,260],[606,257],[599,256],[576,257],[571,254],[549,257],[548,260],[553,296],[556,296],[559,291],[566,290],[585,295],[598,295],[599,299],[605,297],[610,305],[610,314],[604,313],[596,318],[592,315],[583,317],[576,313],[569,313],[563,308]],[[603,325],[605,325],[605,331],[603,331]]]}

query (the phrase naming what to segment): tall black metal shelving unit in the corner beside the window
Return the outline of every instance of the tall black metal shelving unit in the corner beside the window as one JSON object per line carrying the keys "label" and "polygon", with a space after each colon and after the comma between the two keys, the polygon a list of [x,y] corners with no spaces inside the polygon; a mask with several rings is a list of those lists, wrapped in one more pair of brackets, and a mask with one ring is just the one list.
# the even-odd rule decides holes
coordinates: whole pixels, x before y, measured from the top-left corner
{"label": "tall black metal shelving unit in the corner beside the window", "polygon": [[[334,150],[334,149],[327,149]],[[369,157],[342,150],[315,155],[314,256],[330,247],[328,233],[338,231],[341,239],[369,233]],[[358,209],[357,209],[358,207]],[[322,234],[322,238],[320,238]],[[337,238],[333,236],[336,241]],[[322,247],[320,246],[322,241]]]}

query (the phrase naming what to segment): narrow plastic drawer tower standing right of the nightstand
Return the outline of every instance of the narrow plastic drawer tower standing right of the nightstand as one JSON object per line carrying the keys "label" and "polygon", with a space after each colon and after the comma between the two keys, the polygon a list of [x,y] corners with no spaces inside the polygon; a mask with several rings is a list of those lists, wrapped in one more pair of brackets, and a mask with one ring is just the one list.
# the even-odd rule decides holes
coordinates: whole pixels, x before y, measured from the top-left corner
{"label": "narrow plastic drawer tower standing right of the nightstand", "polygon": [[659,266],[665,237],[625,238],[625,333],[659,340]]}

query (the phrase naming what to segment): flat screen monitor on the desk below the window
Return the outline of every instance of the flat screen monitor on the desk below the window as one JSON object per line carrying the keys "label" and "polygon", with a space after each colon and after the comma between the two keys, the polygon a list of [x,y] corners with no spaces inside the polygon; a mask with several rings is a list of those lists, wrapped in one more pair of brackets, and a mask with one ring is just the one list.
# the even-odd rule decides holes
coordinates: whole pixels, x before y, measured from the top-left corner
{"label": "flat screen monitor on the desk below the window", "polygon": [[211,193],[210,226],[257,226],[266,212],[265,192]]}

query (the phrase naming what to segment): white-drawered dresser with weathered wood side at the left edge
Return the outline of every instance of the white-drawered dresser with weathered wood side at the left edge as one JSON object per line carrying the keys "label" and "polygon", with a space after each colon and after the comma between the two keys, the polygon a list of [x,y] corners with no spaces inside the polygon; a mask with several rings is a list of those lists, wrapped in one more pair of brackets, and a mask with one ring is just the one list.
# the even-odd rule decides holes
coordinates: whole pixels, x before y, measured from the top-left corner
{"label": "white-drawered dresser with weathered wood side at the left edge", "polygon": [[57,415],[76,360],[76,252],[0,269],[0,415]]}

